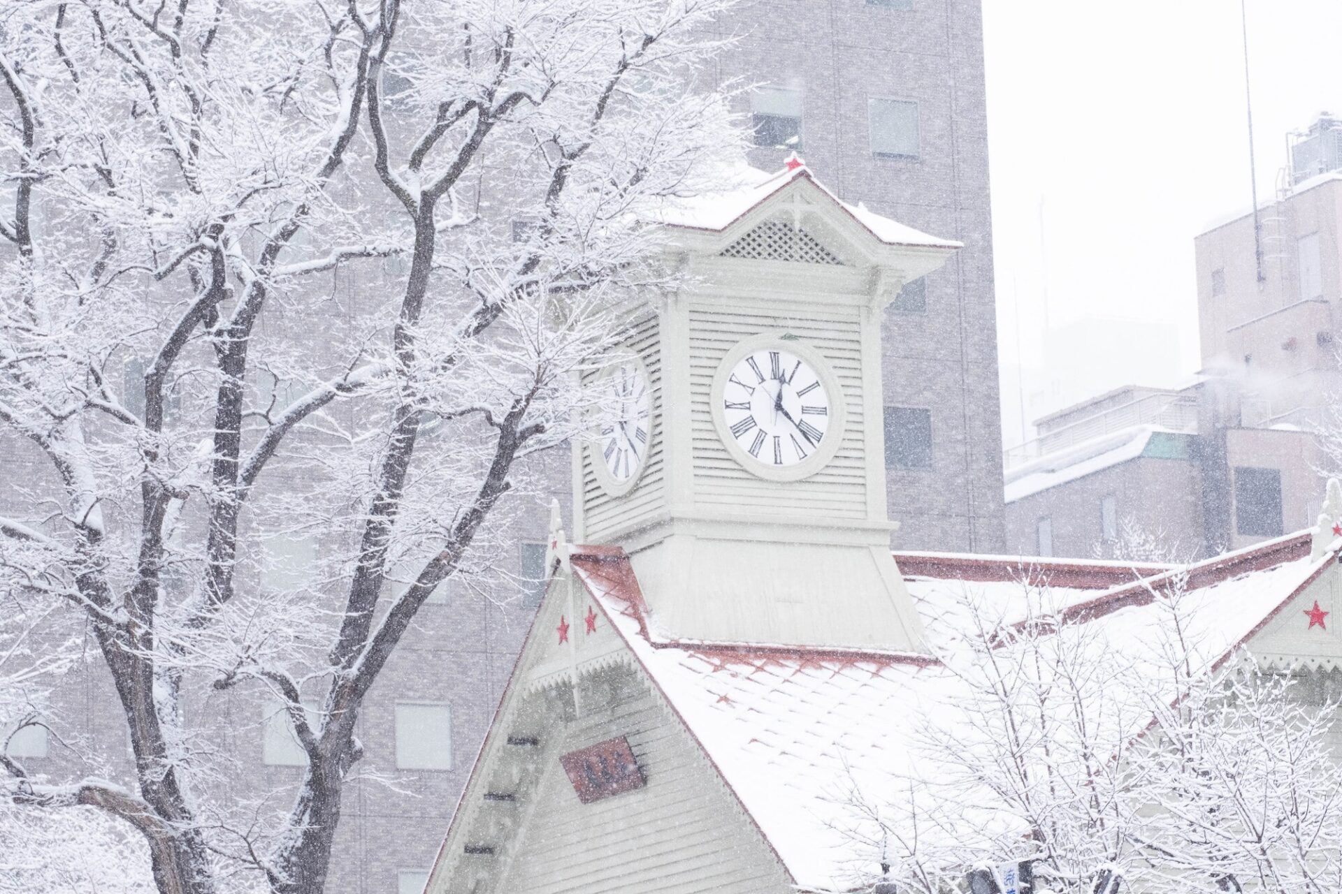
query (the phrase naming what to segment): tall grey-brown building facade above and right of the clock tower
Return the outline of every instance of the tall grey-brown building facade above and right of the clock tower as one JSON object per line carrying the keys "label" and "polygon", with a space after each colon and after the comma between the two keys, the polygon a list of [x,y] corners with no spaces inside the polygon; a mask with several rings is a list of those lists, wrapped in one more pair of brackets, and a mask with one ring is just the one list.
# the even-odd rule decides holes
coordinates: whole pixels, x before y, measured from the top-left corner
{"label": "tall grey-brown building facade above and right of the clock tower", "polygon": [[1002,547],[980,0],[750,0],[719,78],[757,84],[752,162],[796,151],[839,198],[964,243],[883,327],[898,548]]}

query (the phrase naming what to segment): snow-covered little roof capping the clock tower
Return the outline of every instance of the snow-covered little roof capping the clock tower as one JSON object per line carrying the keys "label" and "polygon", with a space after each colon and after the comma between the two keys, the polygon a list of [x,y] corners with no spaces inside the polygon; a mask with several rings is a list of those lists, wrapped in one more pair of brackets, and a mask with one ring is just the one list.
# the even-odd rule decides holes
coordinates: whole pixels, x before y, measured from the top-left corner
{"label": "snow-covered little roof capping the clock tower", "polygon": [[789,166],[768,173],[757,168],[741,166],[733,169],[725,178],[730,186],[718,193],[705,193],[690,198],[668,198],[656,214],[659,222],[667,227],[705,229],[721,232],[741,220],[753,208],[769,197],[782,192],[797,181],[808,181],[839,208],[862,224],[872,236],[887,245],[913,245],[921,248],[962,248],[962,243],[930,236],[913,227],[906,227],[888,217],[867,209],[862,202],[851,205],[841,201],[824,184],[812,177],[800,159],[789,159]]}

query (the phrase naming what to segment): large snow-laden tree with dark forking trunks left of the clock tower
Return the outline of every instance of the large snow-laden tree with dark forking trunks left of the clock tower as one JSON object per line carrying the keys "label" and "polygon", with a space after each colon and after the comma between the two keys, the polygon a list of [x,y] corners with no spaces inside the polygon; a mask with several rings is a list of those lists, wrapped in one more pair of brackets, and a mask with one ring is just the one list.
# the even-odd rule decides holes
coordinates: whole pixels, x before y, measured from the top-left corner
{"label": "large snow-laden tree with dark forking trunks left of the clock tower", "polygon": [[[641,221],[737,154],[695,86],[727,3],[0,13],[0,592],[62,606],[44,654],[87,633],[136,763],[7,759],[11,807],[114,818],[161,891],[322,890],[365,696],[676,284]],[[242,692],[293,724],[289,804],[212,795]]]}

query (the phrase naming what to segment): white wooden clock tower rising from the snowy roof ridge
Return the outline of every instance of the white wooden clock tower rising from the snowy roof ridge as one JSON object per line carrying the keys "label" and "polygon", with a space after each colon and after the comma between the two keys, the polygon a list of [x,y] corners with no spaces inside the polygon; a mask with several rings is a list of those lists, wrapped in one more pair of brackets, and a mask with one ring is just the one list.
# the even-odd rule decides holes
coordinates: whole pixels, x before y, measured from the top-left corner
{"label": "white wooden clock tower rising from the snowy roof ridge", "polygon": [[692,285],[631,326],[574,450],[574,540],[629,555],[656,634],[922,651],[890,555],[882,311],[960,247],[797,159],[660,221]]}

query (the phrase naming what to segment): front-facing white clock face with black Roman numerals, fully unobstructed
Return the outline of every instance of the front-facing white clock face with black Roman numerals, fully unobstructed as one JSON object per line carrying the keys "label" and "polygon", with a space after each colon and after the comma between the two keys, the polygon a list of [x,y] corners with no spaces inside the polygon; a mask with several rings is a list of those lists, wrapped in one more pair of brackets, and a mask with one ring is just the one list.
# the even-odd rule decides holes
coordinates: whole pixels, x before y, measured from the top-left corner
{"label": "front-facing white clock face with black Roman numerals, fully unobstructed", "polygon": [[768,466],[807,460],[829,430],[824,382],[805,361],[781,348],[764,347],[741,358],[718,411],[741,449]]}

